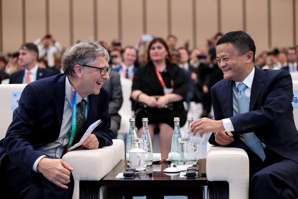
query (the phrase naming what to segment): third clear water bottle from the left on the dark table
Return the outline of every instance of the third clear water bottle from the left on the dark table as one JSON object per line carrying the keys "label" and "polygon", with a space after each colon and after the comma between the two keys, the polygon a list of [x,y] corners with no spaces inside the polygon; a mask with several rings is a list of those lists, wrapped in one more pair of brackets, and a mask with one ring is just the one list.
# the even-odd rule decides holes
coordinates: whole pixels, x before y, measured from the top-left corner
{"label": "third clear water bottle from the left on the dark table", "polygon": [[174,165],[178,165],[178,138],[182,137],[180,131],[180,118],[174,118],[174,122],[175,127],[171,146],[171,161]]}

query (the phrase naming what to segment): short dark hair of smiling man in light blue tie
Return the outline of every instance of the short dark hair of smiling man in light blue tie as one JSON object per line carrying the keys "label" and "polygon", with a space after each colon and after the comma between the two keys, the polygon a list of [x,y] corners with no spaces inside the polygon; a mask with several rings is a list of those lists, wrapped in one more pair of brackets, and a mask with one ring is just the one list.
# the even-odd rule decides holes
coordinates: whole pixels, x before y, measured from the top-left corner
{"label": "short dark hair of smiling man in light blue tie", "polygon": [[249,34],[244,33],[242,30],[232,31],[224,34],[216,43],[219,44],[232,44],[238,50],[238,55],[244,55],[245,53],[252,51],[254,62],[254,56],[256,54],[256,46],[254,45],[254,40],[250,37]]}

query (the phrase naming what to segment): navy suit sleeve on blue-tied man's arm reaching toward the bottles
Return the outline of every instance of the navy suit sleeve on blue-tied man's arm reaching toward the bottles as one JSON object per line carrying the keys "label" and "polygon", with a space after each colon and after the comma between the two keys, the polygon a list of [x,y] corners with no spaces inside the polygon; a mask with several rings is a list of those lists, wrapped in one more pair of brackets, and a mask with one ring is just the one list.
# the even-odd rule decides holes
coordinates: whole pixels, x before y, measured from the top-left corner
{"label": "navy suit sleeve on blue-tied man's arm reaching toward the bottles", "polygon": [[[292,108],[293,84],[289,72],[280,70],[275,75],[271,85],[265,85],[262,94],[268,93],[263,105],[257,109],[230,117],[234,126],[234,135],[252,132],[254,130],[274,127]],[[251,125],[251,128],[243,128]]]}

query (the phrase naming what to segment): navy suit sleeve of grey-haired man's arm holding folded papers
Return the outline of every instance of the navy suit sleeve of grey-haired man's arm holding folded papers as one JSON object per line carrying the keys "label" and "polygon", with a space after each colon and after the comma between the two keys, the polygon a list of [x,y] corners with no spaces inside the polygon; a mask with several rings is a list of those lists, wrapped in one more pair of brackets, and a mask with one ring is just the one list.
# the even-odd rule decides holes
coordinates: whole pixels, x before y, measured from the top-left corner
{"label": "navy suit sleeve of grey-haired man's arm holding folded papers", "polygon": [[102,106],[99,108],[99,118],[102,122],[93,130],[92,134],[96,135],[99,140],[99,147],[110,146],[113,144],[113,132],[111,127],[111,117],[109,114],[109,94],[105,96]]}

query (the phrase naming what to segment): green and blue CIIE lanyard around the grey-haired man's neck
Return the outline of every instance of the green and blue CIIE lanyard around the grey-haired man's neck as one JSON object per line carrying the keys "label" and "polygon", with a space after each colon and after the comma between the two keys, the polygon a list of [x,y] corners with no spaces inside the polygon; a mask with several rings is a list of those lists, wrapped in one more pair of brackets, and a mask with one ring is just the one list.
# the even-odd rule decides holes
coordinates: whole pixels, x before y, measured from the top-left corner
{"label": "green and blue CIIE lanyard around the grey-haired man's neck", "polygon": [[[67,149],[72,146],[72,141],[75,137],[75,129],[77,128],[77,92],[75,91],[74,87],[72,86],[72,134],[70,135],[69,143],[67,145]],[[85,111],[85,121],[88,115],[88,97],[87,97],[87,104],[86,104],[86,111]],[[68,150],[66,149],[66,152]]]}

